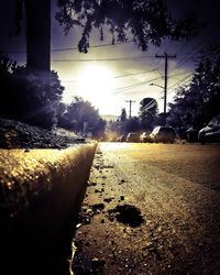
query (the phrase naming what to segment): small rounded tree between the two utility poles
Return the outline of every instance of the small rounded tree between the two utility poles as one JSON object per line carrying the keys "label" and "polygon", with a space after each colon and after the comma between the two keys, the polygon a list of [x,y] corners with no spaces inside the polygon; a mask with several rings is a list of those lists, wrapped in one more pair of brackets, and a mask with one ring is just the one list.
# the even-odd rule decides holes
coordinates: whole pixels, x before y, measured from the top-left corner
{"label": "small rounded tree between the two utility poles", "polygon": [[144,130],[152,130],[156,124],[158,105],[154,98],[144,98],[140,102],[139,117]]}

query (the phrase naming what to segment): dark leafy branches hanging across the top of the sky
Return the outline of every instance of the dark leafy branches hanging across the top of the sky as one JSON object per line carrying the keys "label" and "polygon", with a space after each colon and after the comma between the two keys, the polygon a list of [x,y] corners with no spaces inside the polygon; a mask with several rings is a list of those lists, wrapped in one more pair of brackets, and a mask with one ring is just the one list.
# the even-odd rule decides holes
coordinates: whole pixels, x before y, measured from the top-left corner
{"label": "dark leafy branches hanging across the top of the sky", "polygon": [[184,20],[175,21],[163,0],[57,0],[59,11],[56,19],[64,26],[65,33],[73,26],[81,26],[82,34],[78,44],[80,52],[87,53],[89,35],[94,28],[109,28],[114,41],[127,41],[128,34],[143,50],[148,43],[160,46],[162,38],[190,38],[196,34],[196,16],[189,14]]}

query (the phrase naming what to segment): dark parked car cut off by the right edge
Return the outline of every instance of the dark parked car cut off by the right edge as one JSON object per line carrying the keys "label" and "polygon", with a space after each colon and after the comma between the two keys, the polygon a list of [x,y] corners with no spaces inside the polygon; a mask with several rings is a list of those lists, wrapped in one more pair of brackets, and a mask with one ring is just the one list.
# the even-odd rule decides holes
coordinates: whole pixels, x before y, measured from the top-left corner
{"label": "dark parked car cut off by the right edge", "polygon": [[220,114],[212,118],[207,127],[198,133],[198,140],[205,142],[220,142]]}

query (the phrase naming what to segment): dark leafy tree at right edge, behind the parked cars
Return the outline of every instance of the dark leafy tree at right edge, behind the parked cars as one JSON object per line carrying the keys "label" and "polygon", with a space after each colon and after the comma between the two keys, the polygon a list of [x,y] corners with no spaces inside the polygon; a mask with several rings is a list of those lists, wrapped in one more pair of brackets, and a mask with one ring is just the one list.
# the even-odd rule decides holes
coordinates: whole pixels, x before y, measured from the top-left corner
{"label": "dark leafy tree at right edge, behind the parked cars", "polygon": [[220,113],[220,53],[217,48],[218,45],[201,55],[191,82],[177,90],[174,103],[169,105],[169,124],[199,129]]}

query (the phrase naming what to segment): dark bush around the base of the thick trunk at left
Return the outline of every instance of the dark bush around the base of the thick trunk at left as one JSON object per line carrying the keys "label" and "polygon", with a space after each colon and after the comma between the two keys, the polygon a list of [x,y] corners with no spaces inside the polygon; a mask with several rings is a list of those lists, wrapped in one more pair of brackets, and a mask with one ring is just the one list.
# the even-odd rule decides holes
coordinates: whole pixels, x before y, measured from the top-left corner
{"label": "dark bush around the base of the thick trunk at left", "polygon": [[34,75],[0,55],[0,117],[52,129],[64,88],[57,73]]}

